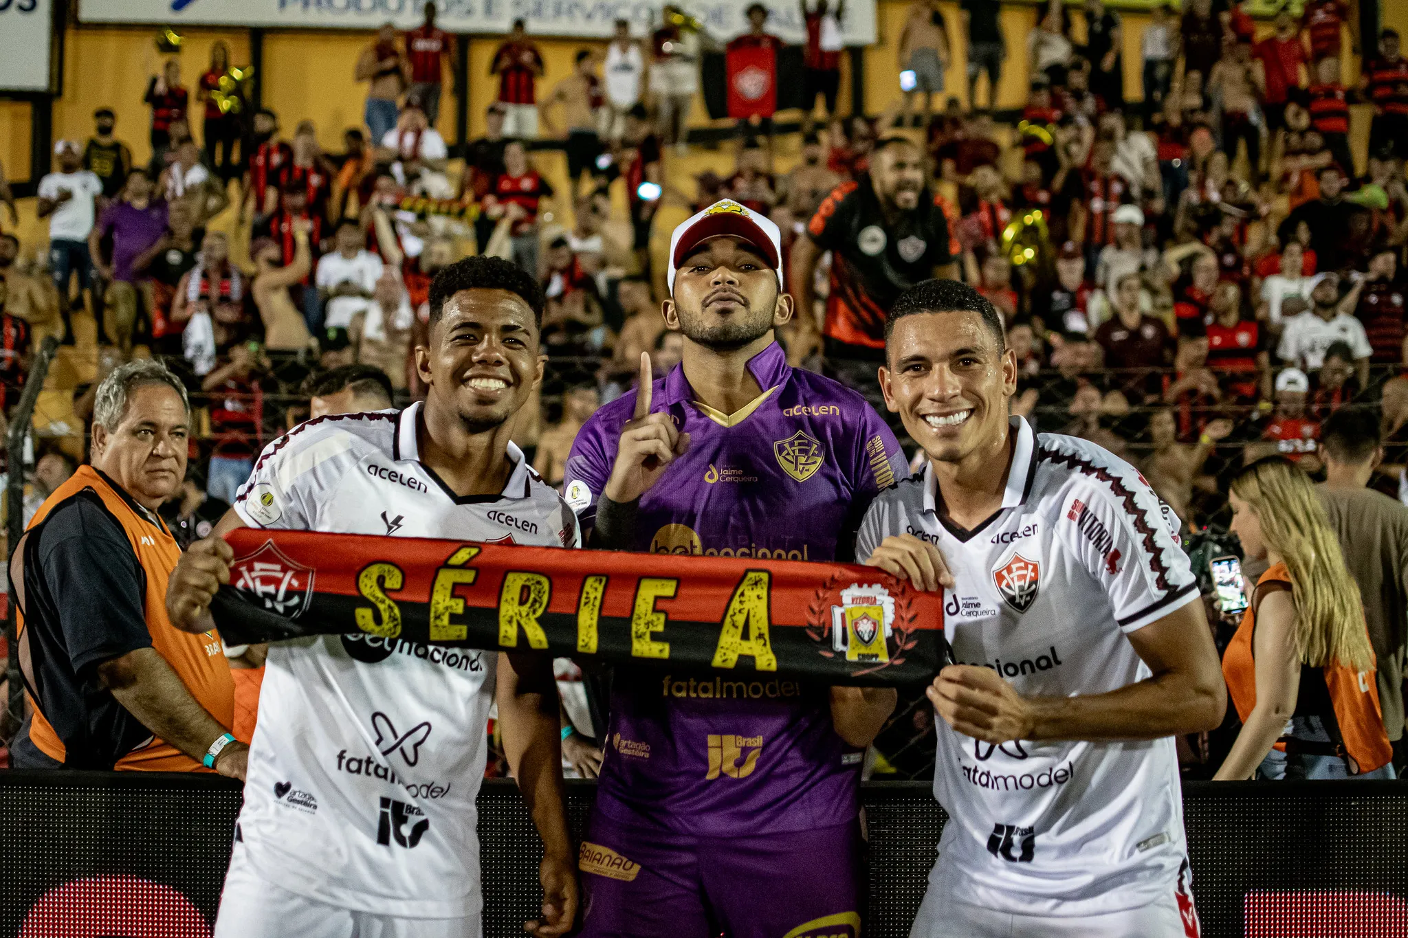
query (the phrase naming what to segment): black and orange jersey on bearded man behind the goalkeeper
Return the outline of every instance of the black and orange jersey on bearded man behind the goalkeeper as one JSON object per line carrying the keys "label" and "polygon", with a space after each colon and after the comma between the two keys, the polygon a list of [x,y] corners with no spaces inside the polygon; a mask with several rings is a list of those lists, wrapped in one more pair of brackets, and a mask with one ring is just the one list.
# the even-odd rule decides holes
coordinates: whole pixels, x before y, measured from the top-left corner
{"label": "black and orange jersey on bearded man behind the goalkeeper", "polygon": [[915,211],[887,224],[869,176],[832,190],[807,225],[832,252],[826,338],[883,349],[886,314],[900,294],[962,253],[956,222],[952,205],[924,191]]}

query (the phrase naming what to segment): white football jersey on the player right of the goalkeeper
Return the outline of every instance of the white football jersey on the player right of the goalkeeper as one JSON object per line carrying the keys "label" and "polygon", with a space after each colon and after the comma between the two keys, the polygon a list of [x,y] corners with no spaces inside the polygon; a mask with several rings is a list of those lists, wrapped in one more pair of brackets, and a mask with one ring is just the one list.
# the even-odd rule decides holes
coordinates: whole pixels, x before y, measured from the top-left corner
{"label": "white football jersey on the player right of the goalkeeper", "polygon": [[[962,664],[1024,695],[1115,690],[1150,676],[1125,637],[1190,602],[1173,513],[1124,460],[1084,440],[1017,444],[1002,508],[972,532],[935,510],[932,467],[876,498],[856,544],[938,546],[953,572],[945,636]],[[991,745],[936,719],[934,795],[949,813],[931,887],[1011,914],[1093,915],[1167,897],[1184,861],[1173,738]]]}

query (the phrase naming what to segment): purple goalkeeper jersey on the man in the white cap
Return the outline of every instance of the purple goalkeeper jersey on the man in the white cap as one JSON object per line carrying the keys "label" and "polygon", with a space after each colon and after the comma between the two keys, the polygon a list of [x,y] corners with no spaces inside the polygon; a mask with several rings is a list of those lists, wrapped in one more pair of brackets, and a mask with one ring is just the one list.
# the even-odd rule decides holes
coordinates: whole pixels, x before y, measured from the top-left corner
{"label": "purple goalkeeper jersey on the man in the white cap", "polygon": [[[874,494],[908,477],[898,442],[865,398],[790,368],[777,343],[748,370],[763,394],[732,415],[696,402],[683,366],[655,383],[652,411],[690,450],[641,499],[632,550],[849,560]],[[584,529],[634,411],[634,392],[612,401],[572,444],[566,498]],[[862,754],[836,735],[825,686],[618,668],[603,744],[597,809],[621,821],[728,837],[856,817]]]}

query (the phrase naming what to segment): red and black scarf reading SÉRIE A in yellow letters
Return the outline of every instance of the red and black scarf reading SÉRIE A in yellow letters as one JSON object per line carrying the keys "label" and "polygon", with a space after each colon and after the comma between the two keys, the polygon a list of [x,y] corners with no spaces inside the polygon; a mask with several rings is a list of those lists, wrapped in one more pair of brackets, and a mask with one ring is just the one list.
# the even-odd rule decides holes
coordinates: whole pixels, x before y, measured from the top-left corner
{"label": "red and black scarf reading S\u00c9RIE A in yellow letters", "polygon": [[926,682],[949,657],[943,593],[873,567],[251,527],[228,540],[211,612],[231,644],[359,634],[427,655],[549,651],[714,675],[725,696],[759,676]]}

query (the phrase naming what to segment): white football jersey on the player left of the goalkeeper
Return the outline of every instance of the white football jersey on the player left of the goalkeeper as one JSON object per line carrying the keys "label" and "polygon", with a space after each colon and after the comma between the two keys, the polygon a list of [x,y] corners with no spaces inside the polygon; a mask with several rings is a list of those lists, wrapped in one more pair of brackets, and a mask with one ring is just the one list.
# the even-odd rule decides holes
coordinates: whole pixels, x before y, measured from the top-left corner
{"label": "white football jersey on the player left of the goalkeeper", "polygon": [[[503,495],[448,489],[418,458],[420,408],[294,428],[259,456],[235,510],[252,527],[580,546],[572,509],[513,444]],[[356,911],[477,917],[496,662],[372,636],[272,644],[238,825],[255,873]]]}

